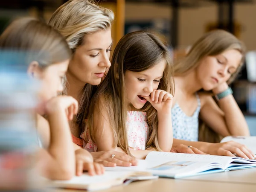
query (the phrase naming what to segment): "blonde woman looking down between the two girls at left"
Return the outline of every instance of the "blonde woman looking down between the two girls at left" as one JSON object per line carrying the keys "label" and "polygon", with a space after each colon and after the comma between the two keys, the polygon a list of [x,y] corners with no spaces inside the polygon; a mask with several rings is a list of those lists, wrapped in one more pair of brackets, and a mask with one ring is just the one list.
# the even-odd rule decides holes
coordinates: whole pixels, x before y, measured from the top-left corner
{"label": "blonde woman looking down between the two girls at left", "polygon": [[[67,70],[66,91],[79,102],[79,111],[70,123],[73,142],[76,143],[77,174],[83,169],[83,162],[97,161],[104,166],[136,165],[134,158],[116,151],[91,153],[87,158],[82,149],[80,137],[88,116],[90,99],[106,70],[109,61],[112,38],[111,25],[114,15],[109,9],[97,6],[89,0],[69,0],[59,7],[49,20],[49,24],[66,38],[72,50],[72,59]],[[111,158],[114,157],[114,158]]]}

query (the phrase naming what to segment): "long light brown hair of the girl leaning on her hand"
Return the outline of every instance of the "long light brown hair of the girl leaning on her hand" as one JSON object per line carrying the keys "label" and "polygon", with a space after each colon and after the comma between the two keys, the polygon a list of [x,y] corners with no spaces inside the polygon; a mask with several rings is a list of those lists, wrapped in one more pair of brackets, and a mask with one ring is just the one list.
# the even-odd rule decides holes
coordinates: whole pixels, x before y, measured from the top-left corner
{"label": "long light brown hair of the girl leaning on her hand", "polygon": [[[187,55],[174,65],[175,76],[183,76],[190,70],[198,67],[201,59],[207,56],[219,55],[230,49],[238,50],[242,59],[236,73],[233,73],[228,84],[232,83],[238,76],[244,64],[245,47],[234,35],[224,30],[213,30],[204,34],[195,44],[192,45]],[[220,136],[199,119],[199,141],[218,143]]]}

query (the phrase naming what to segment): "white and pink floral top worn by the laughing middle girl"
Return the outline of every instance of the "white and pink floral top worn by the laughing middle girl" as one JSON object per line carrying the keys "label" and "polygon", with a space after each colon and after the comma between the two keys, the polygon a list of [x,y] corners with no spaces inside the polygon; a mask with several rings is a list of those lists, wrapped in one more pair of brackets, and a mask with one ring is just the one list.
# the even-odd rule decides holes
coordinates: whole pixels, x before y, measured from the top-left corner
{"label": "white and pink floral top worn by the laughing middle girl", "polygon": [[[148,124],[147,124],[147,114],[143,111],[128,111],[127,117],[127,135],[128,144],[130,150],[145,150],[146,142],[148,138]],[[84,142],[84,148],[90,152],[97,151],[97,145],[90,139],[89,133],[86,135],[89,138],[88,143]]]}

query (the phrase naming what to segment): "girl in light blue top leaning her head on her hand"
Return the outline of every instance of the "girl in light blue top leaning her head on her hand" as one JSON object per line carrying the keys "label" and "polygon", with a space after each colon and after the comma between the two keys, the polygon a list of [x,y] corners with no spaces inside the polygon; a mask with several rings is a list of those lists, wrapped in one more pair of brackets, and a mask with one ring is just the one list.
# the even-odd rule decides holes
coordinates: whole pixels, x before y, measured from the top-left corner
{"label": "girl in light blue top leaning her head on her hand", "polygon": [[186,57],[175,64],[176,89],[172,107],[174,144],[192,145],[212,155],[234,156],[236,153],[240,157],[253,159],[253,153],[239,143],[198,142],[198,117],[222,137],[250,135],[228,86],[244,63],[244,52],[244,45],[235,36],[215,30],[196,41]]}

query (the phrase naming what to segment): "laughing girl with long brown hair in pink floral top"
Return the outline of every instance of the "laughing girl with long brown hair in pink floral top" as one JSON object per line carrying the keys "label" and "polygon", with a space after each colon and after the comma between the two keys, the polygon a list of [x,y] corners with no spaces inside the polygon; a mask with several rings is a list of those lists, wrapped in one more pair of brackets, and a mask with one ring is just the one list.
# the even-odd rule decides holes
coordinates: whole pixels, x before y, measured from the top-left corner
{"label": "laughing girl with long brown hair in pink floral top", "polygon": [[150,150],[171,151],[172,67],[169,50],[157,36],[142,31],[123,36],[91,99],[85,148],[139,159]]}

